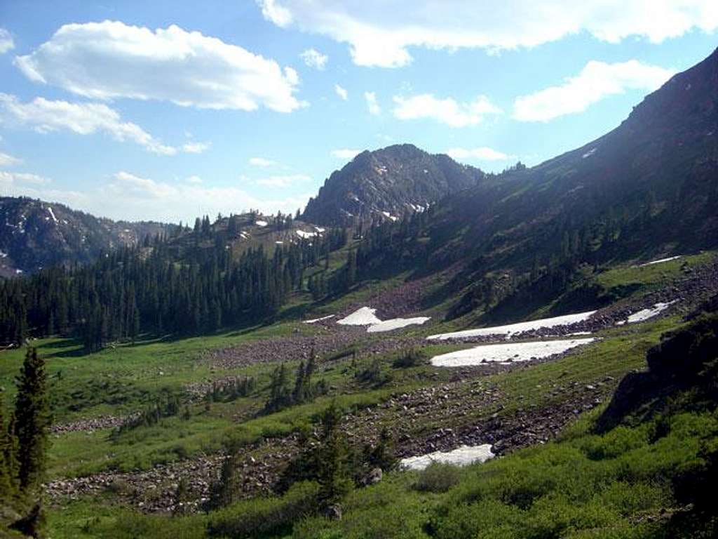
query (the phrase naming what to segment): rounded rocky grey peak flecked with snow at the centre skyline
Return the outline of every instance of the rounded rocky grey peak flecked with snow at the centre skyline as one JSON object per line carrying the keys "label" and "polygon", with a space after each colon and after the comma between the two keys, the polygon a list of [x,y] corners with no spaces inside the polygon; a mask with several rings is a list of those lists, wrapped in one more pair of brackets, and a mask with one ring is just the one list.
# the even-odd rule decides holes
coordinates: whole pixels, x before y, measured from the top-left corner
{"label": "rounded rocky grey peak flecked with snow at the centre skyline", "polygon": [[396,218],[423,211],[483,177],[477,168],[411,144],[365,151],[332,172],[317,197],[309,199],[303,218],[320,225]]}

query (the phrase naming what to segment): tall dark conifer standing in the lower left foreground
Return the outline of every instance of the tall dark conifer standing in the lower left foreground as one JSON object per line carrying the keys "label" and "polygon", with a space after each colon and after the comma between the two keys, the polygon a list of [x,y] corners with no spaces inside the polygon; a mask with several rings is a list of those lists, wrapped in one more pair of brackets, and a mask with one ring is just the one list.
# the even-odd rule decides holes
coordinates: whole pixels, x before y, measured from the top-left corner
{"label": "tall dark conifer standing in the lower left foreground", "polygon": [[51,421],[47,386],[45,359],[37,355],[37,349],[27,349],[17,379],[14,424],[19,443],[19,482],[24,492],[36,491],[45,478]]}

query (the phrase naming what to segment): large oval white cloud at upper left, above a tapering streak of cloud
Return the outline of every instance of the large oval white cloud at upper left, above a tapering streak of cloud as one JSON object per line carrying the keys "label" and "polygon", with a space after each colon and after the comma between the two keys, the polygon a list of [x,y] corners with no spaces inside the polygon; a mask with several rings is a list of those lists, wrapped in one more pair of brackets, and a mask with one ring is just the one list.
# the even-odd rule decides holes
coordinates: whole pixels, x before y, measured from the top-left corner
{"label": "large oval white cloud at upper left, above a tapering streak of cloud", "polygon": [[299,76],[274,60],[177,26],[65,24],[15,63],[31,80],[94,99],[171,101],[200,109],[290,112]]}

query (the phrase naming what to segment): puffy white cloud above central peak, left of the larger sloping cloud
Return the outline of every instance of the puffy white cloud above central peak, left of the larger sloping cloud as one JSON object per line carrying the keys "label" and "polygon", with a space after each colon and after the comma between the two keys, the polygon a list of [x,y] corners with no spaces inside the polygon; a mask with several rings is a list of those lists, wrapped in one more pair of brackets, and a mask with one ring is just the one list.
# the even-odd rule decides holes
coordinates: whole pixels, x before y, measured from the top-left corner
{"label": "puffy white cloud above central peak, left of the larger sloping cloud", "polygon": [[458,103],[453,98],[437,98],[431,93],[404,98],[394,96],[394,116],[400,120],[434,119],[452,127],[476,125],[490,114],[501,114],[486,96],[477,96],[470,103]]}

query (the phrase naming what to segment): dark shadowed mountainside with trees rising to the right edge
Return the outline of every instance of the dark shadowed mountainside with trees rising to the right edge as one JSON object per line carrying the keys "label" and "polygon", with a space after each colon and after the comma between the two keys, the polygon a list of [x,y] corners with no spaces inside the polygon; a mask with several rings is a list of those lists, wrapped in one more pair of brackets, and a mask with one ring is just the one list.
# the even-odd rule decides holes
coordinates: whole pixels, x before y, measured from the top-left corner
{"label": "dark shadowed mountainside with trees rising to the right edge", "polygon": [[603,264],[716,247],[718,52],[603,137],[536,167],[486,175],[422,221],[374,234],[360,267],[426,273],[460,262],[443,296],[465,290],[457,315],[510,296],[503,312],[528,315],[532,302],[546,305]]}

